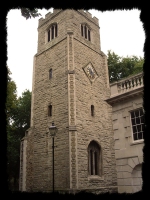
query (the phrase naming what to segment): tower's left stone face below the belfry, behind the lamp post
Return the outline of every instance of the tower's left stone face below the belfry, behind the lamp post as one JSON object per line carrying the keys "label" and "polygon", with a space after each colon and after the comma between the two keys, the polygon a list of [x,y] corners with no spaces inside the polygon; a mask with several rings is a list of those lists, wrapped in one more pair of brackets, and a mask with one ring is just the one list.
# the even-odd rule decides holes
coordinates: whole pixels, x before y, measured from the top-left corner
{"label": "tower's left stone face below the belfry, behind the lamp post", "polygon": [[[55,187],[68,188],[69,140],[66,40],[36,55],[33,125],[34,174],[33,188],[37,191],[52,189],[52,138],[47,134],[54,121],[58,127],[55,137]],[[52,79],[49,70],[52,68]],[[48,116],[48,105],[52,105],[52,116]],[[60,181],[61,180],[61,181]]]}

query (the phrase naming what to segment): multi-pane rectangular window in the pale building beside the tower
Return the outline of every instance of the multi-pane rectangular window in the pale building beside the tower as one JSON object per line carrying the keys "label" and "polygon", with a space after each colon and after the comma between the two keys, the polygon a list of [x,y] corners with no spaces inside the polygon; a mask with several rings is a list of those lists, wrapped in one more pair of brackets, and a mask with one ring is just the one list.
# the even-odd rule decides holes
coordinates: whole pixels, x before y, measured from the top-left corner
{"label": "multi-pane rectangular window in the pale building beside the tower", "polygon": [[[129,111],[131,122],[131,133],[133,142],[143,141],[144,133],[144,110],[142,107]],[[139,115],[139,117],[138,117]],[[141,136],[140,136],[141,135]]]}

